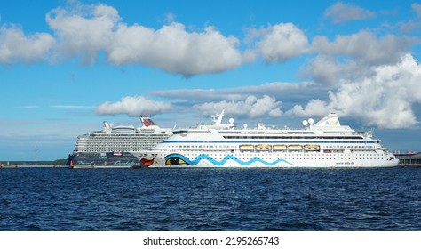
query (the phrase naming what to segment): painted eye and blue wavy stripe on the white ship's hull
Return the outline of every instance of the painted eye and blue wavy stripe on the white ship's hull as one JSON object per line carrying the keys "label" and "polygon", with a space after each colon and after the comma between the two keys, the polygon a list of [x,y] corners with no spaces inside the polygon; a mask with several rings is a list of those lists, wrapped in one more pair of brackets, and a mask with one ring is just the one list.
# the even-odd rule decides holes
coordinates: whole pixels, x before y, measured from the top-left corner
{"label": "painted eye and blue wavy stripe on the white ship's hull", "polygon": [[200,161],[202,161],[202,160],[207,160],[212,165],[216,165],[216,166],[225,165],[228,160],[233,160],[233,161],[235,161],[238,164],[243,165],[243,166],[249,166],[249,165],[252,165],[254,163],[261,163],[261,164],[266,165],[266,166],[274,166],[274,165],[277,165],[281,162],[286,163],[288,165],[293,165],[290,162],[288,162],[288,161],[286,161],[282,158],[276,159],[274,162],[266,162],[266,161],[262,160],[261,158],[257,158],[257,157],[251,158],[249,161],[242,161],[242,160],[238,159],[237,157],[234,157],[233,155],[227,155],[222,160],[218,161],[218,160],[215,160],[214,158],[212,158],[212,157],[210,157],[209,155],[206,155],[206,154],[200,154],[194,160],[190,160],[189,158],[187,158],[183,155],[180,155],[180,154],[171,154],[171,155],[168,155],[167,157],[165,157],[165,165],[192,165],[192,166],[194,166],[194,165],[199,164]]}

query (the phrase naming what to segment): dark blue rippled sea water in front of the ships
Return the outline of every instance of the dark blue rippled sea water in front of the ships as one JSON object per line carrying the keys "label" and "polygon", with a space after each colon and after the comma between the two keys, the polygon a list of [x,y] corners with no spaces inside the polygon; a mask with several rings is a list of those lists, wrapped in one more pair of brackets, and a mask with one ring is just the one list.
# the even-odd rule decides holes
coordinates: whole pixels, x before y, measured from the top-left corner
{"label": "dark blue rippled sea water in front of the ships", "polygon": [[421,168],[0,170],[0,230],[421,230]]}

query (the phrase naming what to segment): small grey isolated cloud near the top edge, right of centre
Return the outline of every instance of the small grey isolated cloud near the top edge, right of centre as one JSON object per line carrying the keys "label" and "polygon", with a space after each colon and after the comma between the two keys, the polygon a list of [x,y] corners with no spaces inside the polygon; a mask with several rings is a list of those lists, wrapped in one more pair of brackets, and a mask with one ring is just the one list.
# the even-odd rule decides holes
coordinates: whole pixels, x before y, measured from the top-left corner
{"label": "small grey isolated cloud near the top edge, right of centre", "polygon": [[351,20],[367,20],[375,16],[376,14],[374,12],[341,2],[331,5],[324,12],[324,17],[330,19],[334,24],[345,23]]}

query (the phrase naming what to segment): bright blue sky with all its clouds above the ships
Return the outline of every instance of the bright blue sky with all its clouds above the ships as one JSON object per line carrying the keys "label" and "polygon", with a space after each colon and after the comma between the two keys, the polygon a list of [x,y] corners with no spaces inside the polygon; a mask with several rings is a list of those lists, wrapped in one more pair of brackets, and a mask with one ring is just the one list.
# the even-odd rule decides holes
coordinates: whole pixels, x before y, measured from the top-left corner
{"label": "bright blue sky with all its clouds above the ships", "polygon": [[[22,11],[23,9],[23,11]],[[0,1],[0,162],[102,122],[299,127],[335,111],[421,151],[421,2]]]}

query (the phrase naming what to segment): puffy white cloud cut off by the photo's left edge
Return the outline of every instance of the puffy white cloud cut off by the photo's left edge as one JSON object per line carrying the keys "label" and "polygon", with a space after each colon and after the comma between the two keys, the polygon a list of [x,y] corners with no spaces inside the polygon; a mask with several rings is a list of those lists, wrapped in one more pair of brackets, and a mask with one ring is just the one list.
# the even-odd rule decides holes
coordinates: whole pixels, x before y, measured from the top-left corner
{"label": "puffy white cloud cut off by the photo's left edge", "polygon": [[54,45],[54,38],[47,33],[26,36],[18,26],[3,25],[0,28],[0,63],[32,63],[44,60]]}

